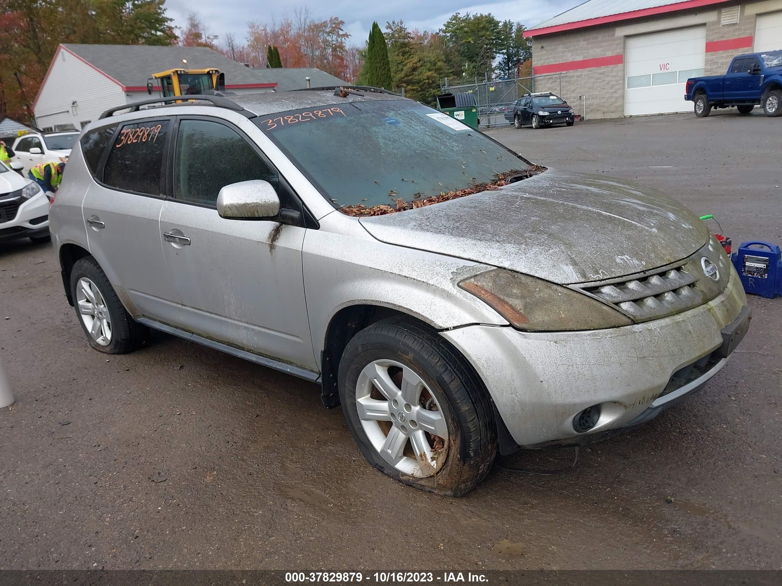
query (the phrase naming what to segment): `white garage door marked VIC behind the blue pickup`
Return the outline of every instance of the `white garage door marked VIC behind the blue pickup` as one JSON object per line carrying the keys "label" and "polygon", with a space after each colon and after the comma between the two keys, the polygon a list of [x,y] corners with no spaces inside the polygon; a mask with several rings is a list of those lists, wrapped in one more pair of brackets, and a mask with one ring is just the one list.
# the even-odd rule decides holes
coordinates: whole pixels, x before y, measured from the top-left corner
{"label": "white garage door marked VIC behind the blue pickup", "polygon": [[625,115],[689,112],[687,77],[703,75],[706,27],[628,37],[625,47]]}

